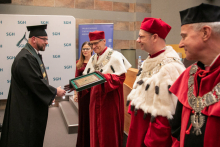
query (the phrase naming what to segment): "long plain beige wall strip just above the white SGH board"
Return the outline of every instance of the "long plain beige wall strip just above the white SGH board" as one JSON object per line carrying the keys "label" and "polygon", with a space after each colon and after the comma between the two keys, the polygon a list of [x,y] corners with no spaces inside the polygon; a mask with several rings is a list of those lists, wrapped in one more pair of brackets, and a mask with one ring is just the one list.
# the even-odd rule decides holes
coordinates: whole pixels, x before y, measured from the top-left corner
{"label": "long plain beige wall strip just above the white SGH board", "polygon": [[[75,3],[76,4],[76,3]],[[1,4],[0,14],[26,14],[26,15],[72,15],[82,19],[100,19],[114,21],[135,21],[135,13],[102,11],[90,9],[72,9],[58,7],[35,7]]]}

